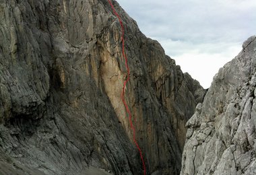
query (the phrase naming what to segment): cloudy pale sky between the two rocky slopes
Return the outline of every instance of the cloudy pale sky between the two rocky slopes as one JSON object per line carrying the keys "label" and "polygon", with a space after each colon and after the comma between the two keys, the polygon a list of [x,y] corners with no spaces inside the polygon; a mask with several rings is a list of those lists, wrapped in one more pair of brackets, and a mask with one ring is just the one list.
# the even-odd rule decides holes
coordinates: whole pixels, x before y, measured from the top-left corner
{"label": "cloudy pale sky between the two rocky slopes", "polygon": [[256,34],[256,0],[117,1],[203,88]]}

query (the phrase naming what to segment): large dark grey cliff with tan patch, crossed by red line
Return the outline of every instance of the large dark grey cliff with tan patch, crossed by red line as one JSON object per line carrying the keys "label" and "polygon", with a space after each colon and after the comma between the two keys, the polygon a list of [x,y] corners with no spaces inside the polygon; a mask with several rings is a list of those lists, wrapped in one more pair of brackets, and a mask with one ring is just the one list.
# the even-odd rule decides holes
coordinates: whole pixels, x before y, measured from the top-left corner
{"label": "large dark grey cliff with tan patch, crossed by red line", "polygon": [[[179,174],[205,90],[113,4],[126,100],[148,174]],[[0,174],[142,174],[105,0],[0,0]]]}

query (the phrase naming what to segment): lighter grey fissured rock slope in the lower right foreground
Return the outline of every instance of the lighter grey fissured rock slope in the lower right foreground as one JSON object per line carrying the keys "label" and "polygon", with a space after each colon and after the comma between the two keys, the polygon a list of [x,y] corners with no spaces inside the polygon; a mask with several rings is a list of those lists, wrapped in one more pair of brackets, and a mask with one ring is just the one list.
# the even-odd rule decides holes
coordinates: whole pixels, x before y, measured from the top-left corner
{"label": "lighter grey fissured rock slope in the lower right foreground", "polygon": [[256,174],[256,36],[220,69],[187,122],[181,174]]}

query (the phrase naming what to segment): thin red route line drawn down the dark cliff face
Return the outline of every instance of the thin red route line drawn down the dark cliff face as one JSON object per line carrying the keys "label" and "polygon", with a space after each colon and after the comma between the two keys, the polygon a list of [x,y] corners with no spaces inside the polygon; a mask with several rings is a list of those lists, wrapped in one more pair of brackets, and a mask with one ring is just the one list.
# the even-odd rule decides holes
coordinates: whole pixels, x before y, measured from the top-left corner
{"label": "thin red route line drawn down the dark cliff face", "polygon": [[117,18],[119,20],[119,23],[121,25],[121,28],[122,28],[122,36],[121,36],[122,52],[123,52],[123,57],[125,58],[125,67],[127,69],[127,79],[125,79],[125,82],[123,83],[123,91],[121,92],[121,99],[123,101],[123,104],[125,105],[126,112],[129,114],[129,122],[130,122],[130,125],[131,125],[131,129],[133,130],[133,142],[135,143],[135,145],[137,146],[137,149],[139,150],[139,155],[140,155],[140,158],[141,158],[141,161],[142,161],[142,164],[143,164],[144,175],[146,175],[146,166],[145,166],[145,162],[143,160],[142,151],[141,151],[141,149],[139,147],[139,144],[137,143],[136,138],[135,138],[135,128],[133,127],[133,122],[131,120],[131,111],[129,110],[129,107],[128,107],[127,103],[125,102],[125,87],[126,87],[127,82],[130,79],[130,69],[129,69],[129,66],[128,66],[128,59],[125,55],[125,28],[123,26],[123,22],[121,20],[121,17],[119,16],[117,11],[115,10],[115,7],[113,6],[113,4],[111,3],[110,0],[108,0],[108,3],[110,4],[111,8],[113,9],[113,12],[117,16]]}

